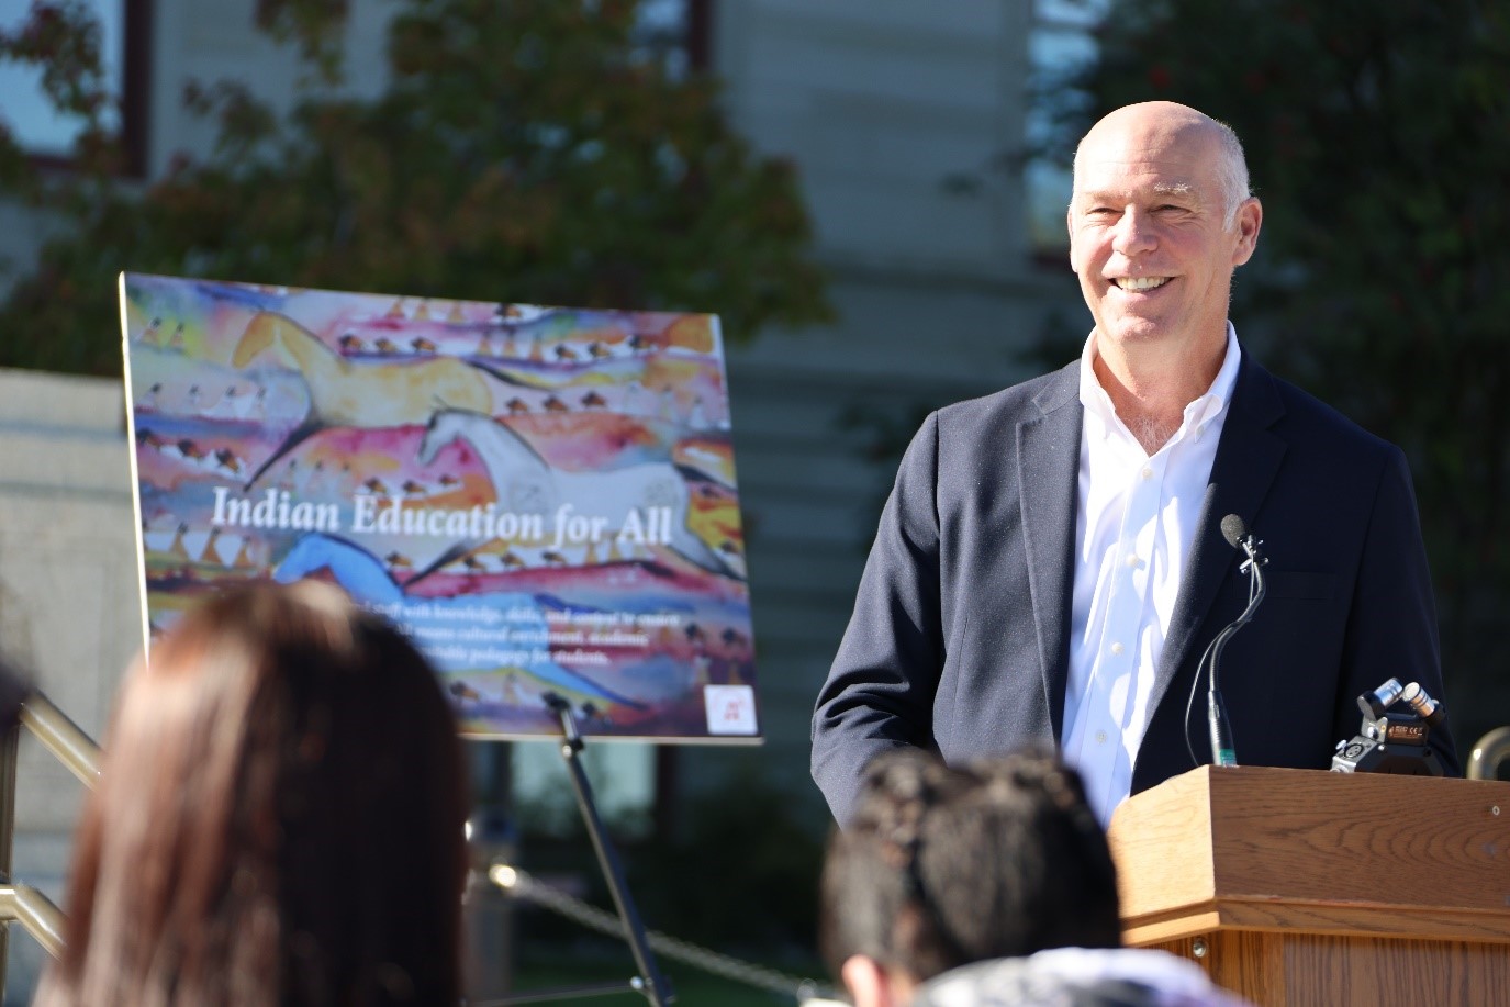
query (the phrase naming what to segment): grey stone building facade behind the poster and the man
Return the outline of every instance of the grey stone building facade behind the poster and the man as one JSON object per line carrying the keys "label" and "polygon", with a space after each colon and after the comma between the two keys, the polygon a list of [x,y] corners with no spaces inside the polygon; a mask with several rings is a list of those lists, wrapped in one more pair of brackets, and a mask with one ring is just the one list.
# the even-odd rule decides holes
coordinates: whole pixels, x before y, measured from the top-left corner
{"label": "grey stone building facade behind the poster and the man", "polygon": [[[211,140],[183,107],[189,82],[237,79],[291,101],[294,57],[255,30],[258,0],[115,6],[148,177]],[[350,3],[355,94],[384,86],[393,8]],[[758,334],[728,359],[764,744],[625,750],[606,797],[634,805],[657,784],[683,799],[717,794],[753,771],[820,832],[808,722],[891,480],[894,457],[874,445],[927,409],[1024,376],[1022,350],[1046,319],[1078,305],[1066,257],[1045,257],[1031,234],[1042,195],[1022,169],[1042,11],[1033,0],[708,0],[681,17],[704,33],[693,48],[723,79],[734,125],[797,166],[838,320]],[[45,219],[0,207],[0,252],[24,263],[45,233]],[[0,373],[0,646],[98,737],[140,646],[122,391]],[[528,790],[556,756],[524,747],[541,749],[515,759]],[[17,874],[57,895],[79,787],[26,746],[20,790]],[[12,978],[27,981],[35,960],[18,956],[33,951],[29,939],[11,944]]]}

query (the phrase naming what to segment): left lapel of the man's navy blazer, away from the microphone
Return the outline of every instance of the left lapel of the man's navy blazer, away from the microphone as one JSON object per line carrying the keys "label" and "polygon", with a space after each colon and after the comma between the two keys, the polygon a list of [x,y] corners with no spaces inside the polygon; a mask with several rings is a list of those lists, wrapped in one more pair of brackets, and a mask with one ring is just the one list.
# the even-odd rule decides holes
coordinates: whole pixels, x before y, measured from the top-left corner
{"label": "left lapel of the man's navy blazer, away from the microphone", "polygon": [[1040,415],[1018,424],[1018,492],[1043,693],[1054,741],[1059,743],[1065,731],[1075,515],[1080,510],[1080,429],[1084,418],[1080,362],[1060,370],[1033,402]]}

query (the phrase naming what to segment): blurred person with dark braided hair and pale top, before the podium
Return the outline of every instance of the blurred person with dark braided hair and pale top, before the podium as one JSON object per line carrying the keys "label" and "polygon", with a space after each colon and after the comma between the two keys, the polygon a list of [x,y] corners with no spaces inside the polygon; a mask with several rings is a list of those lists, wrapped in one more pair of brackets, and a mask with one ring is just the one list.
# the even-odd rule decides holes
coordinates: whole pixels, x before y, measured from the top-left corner
{"label": "blurred person with dark braided hair and pale top, before the podium", "polygon": [[1111,851],[1048,755],[865,770],[823,871],[821,944],[856,1007],[1237,1007],[1163,951],[1120,948]]}

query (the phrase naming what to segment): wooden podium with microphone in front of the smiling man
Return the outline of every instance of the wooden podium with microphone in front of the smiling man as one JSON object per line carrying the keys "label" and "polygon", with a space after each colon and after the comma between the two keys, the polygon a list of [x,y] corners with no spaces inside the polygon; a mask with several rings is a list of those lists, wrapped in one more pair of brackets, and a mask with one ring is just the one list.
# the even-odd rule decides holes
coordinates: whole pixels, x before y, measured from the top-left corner
{"label": "wooden podium with microphone in front of the smiling man", "polygon": [[1110,841],[1126,942],[1255,1004],[1510,1004],[1510,784],[1206,765]]}

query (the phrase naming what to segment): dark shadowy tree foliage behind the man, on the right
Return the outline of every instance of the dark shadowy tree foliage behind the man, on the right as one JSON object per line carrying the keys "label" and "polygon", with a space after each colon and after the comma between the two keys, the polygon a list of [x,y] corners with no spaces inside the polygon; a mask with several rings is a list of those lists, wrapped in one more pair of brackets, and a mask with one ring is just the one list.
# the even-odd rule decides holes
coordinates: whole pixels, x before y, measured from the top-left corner
{"label": "dark shadowy tree foliage behind the man, on the right", "polygon": [[1265,217],[1234,317],[1406,448],[1459,741],[1510,722],[1510,5],[1116,0],[1098,41],[1065,134],[1149,98],[1237,128]]}

